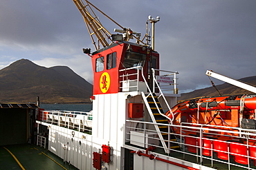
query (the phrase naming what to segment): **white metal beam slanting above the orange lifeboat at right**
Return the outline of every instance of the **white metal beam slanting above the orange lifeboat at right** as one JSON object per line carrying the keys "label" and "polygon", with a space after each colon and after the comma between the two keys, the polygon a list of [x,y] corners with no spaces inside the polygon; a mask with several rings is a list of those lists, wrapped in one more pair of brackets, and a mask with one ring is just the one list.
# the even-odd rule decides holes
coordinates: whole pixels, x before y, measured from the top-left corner
{"label": "white metal beam slanting above the orange lifeboat at right", "polygon": [[207,70],[205,73],[207,76],[212,76],[213,78],[217,78],[220,81],[224,81],[226,83],[230,83],[231,85],[235,85],[237,87],[246,89],[250,92],[256,93],[256,87],[253,87],[252,85],[248,85],[246,83],[242,83],[241,81],[234,80],[232,78],[229,78],[227,76],[223,76],[221,74],[218,74],[216,72],[212,72],[212,70]]}

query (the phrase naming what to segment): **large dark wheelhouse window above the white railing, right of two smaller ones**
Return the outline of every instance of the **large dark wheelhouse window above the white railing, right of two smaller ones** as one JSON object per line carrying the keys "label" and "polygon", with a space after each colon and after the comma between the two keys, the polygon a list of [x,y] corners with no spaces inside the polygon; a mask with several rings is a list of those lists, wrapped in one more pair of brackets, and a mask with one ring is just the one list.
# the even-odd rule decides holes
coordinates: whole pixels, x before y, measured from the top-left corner
{"label": "large dark wheelhouse window above the white railing, right of two smaller ones", "polygon": [[138,52],[126,52],[123,65],[126,68],[144,66],[146,61],[146,54],[140,54]]}

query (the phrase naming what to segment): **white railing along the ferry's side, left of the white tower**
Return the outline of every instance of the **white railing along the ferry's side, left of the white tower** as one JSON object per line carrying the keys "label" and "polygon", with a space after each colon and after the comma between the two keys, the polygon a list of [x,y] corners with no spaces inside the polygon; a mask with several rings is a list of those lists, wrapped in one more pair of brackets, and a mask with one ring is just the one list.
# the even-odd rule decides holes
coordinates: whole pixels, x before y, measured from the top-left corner
{"label": "white railing along the ferry's side, left of the white tower", "polygon": [[41,111],[37,120],[91,134],[93,113],[91,111]]}

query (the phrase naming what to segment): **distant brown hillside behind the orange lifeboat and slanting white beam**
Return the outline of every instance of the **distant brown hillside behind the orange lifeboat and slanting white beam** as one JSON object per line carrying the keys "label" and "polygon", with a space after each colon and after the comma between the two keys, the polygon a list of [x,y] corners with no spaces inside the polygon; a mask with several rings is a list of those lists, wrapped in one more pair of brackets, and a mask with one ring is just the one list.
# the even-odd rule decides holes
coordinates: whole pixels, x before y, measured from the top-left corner
{"label": "distant brown hillside behind the orange lifeboat and slanting white beam", "polygon": [[[238,81],[244,82],[249,85],[256,85],[256,76],[250,76],[246,78],[241,78]],[[209,82],[210,83],[210,82]],[[223,83],[221,85],[216,85],[217,89],[221,93],[221,96],[227,95],[240,95],[240,94],[253,94],[246,89],[241,89],[240,87],[236,87],[235,85],[230,85],[229,83]],[[179,100],[188,100],[190,98],[198,98],[198,97],[210,97],[210,96],[219,96],[214,87],[207,87],[205,89],[196,89],[193,92],[181,94]]]}

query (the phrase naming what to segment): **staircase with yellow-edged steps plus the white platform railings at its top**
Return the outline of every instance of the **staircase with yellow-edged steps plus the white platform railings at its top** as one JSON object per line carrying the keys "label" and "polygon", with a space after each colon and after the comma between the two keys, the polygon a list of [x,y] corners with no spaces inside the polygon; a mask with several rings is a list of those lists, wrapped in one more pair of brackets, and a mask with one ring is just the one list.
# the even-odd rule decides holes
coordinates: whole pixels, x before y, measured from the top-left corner
{"label": "staircase with yellow-edged steps plus the white platform railings at its top", "polygon": [[[155,78],[155,74],[154,72],[158,71],[158,72],[167,72],[164,70],[155,70],[152,68],[152,72],[153,72],[153,88],[150,88],[149,85],[147,84],[147,79],[145,78],[144,74],[141,74],[141,76],[143,77],[144,83],[147,87],[146,90],[140,90],[138,87],[138,83],[140,83],[138,81],[138,75],[140,73],[143,73],[143,67],[142,66],[136,66],[136,67],[131,67],[125,70],[131,70],[131,69],[136,69],[137,73],[136,74],[126,74],[126,75],[122,75],[122,77],[126,77],[127,80],[129,80],[129,76],[137,76],[137,79],[131,79],[129,81],[134,81],[137,83],[137,86],[133,86],[133,88],[136,88],[137,92],[141,92],[141,95],[143,97],[145,106],[147,107],[147,110],[149,112],[149,116],[152,120],[152,122],[154,123],[154,128],[156,129],[156,132],[158,134],[158,138],[161,141],[161,145],[163,146],[163,149],[165,150],[165,153],[170,153],[170,149],[176,149],[179,148],[179,145],[176,145],[176,143],[172,142],[172,141],[176,141],[176,138],[174,136],[174,134],[172,133],[172,129],[170,128],[169,122],[170,124],[172,124],[172,119],[169,118],[168,116],[165,115],[163,108],[161,107],[161,103],[159,102],[158,98],[163,98],[163,105],[165,104],[165,106],[167,107],[168,110],[170,110],[170,114],[172,114],[172,118],[174,118],[174,115],[172,113],[172,110],[170,108],[169,103],[167,102],[163,91],[161,90],[161,87],[158,85],[158,82],[156,81]],[[120,70],[120,71],[125,71],[125,70]],[[176,80],[176,74],[177,72],[168,72],[170,74],[167,74],[165,76],[169,76],[174,74],[174,80]],[[124,83],[125,81],[122,81],[122,83]],[[176,89],[176,81],[174,81],[174,89]],[[152,92],[153,89],[153,92]],[[157,92],[159,94],[159,96],[156,96],[155,94],[155,89],[157,89]],[[147,92],[148,94],[145,94],[145,92]]]}

